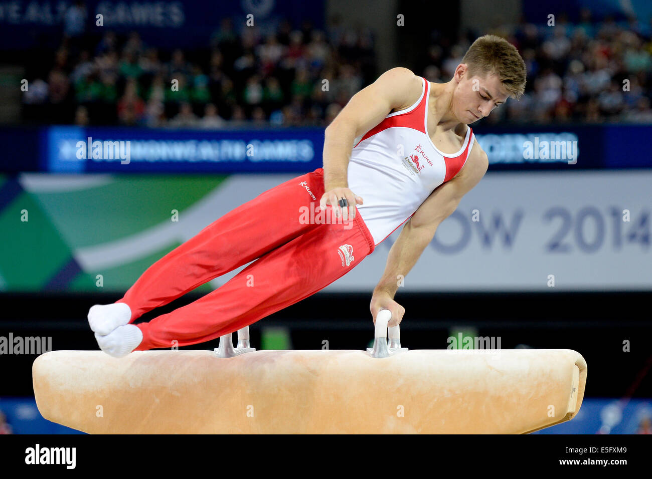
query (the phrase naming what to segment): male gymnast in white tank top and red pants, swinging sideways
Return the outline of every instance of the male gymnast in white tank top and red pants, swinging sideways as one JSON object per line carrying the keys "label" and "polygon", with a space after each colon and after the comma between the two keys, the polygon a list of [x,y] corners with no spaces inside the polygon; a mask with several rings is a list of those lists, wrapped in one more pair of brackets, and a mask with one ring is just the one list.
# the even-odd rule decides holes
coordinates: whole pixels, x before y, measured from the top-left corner
{"label": "male gymnast in white tank top and red pants, swinging sideways", "polygon": [[[473,42],[448,83],[387,70],[325,129],[323,168],[224,214],[151,265],[123,298],[92,306],[88,321],[100,349],[121,357],[237,331],[314,295],[404,225],[370,304],[372,321],[387,309],[389,326],[398,325],[405,312],[394,301],[398,278],[486,173],[487,155],[467,125],[509,97],[518,100],[525,85],[518,50],[494,35]],[[306,220],[306,210],[337,220]],[[132,324],[251,261],[204,297]]]}

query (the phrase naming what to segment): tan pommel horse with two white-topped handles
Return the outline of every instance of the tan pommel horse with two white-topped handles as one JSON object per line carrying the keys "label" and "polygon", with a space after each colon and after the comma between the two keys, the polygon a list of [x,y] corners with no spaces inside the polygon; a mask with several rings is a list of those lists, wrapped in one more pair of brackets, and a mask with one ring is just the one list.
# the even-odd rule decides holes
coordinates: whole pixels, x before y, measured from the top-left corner
{"label": "tan pommel horse with two white-topped handles", "polygon": [[[374,347],[50,351],[33,364],[44,418],[87,433],[530,433],[571,420],[587,366],[571,349],[415,349],[391,313]],[[387,334],[389,331],[389,343]]]}

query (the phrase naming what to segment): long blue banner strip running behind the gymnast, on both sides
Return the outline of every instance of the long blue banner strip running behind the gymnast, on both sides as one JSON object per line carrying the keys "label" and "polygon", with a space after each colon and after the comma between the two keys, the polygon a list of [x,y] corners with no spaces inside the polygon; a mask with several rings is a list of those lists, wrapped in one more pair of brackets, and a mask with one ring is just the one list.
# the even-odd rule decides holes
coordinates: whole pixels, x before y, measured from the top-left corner
{"label": "long blue banner strip running behind the gymnast, on both sides", "polygon": [[[490,171],[652,167],[649,124],[503,126],[474,133]],[[323,128],[12,127],[0,128],[0,171],[303,173],[322,166],[323,145]]]}

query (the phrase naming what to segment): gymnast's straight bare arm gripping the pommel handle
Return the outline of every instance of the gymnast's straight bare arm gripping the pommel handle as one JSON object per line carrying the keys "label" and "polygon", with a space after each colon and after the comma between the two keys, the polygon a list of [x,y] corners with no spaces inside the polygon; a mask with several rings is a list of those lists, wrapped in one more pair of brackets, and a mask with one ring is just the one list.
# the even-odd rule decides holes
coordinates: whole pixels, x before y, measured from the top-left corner
{"label": "gymnast's straight bare arm gripping the pommel handle", "polygon": [[421,203],[389,250],[385,272],[374,288],[371,301],[370,309],[374,322],[379,310],[388,309],[392,312],[389,325],[400,324],[405,310],[394,301],[399,275],[403,278],[408,275],[423,250],[432,241],[439,224],[457,209],[462,197],[478,184],[487,171],[489,164],[487,155],[480,145],[475,146],[477,148],[471,150],[467,163],[460,173],[437,187]]}

